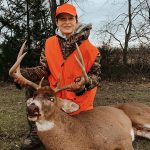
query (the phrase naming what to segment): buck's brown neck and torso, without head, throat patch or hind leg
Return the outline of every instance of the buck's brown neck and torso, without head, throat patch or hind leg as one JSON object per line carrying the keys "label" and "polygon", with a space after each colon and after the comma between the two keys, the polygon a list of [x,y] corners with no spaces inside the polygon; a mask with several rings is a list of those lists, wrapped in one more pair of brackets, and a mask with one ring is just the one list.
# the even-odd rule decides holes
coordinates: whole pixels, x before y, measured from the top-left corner
{"label": "buck's brown neck and torso, without head, throat patch or hind leg", "polygon": [[122,110],[99,106],[72,117],[55,111],[54,126],[38,135],[47,150],[133,150],[132,124]]}

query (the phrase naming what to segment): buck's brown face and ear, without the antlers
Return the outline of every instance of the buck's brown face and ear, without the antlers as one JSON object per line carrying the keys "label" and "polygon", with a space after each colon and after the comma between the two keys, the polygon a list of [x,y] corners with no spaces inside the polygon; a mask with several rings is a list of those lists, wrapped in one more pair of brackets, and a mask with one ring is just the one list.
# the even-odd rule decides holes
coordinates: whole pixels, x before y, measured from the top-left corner
{"label": "buck's brown face and ear, without the antlers", "polygon": [[48,86],[41,87],[27,100],[27,113],[31,121],[49,120],[57,110],[72,113],[78,109],[78,104],[56,97],[56,93]]}

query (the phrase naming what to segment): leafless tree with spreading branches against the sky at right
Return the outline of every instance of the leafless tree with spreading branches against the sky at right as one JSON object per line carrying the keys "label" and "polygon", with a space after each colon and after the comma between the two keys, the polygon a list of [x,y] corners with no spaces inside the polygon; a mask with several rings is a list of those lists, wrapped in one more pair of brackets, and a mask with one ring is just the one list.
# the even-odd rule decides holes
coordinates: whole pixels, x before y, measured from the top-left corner
{"label": "leafless tree with spreading branches against the sky at right", "polygon": [[119,14],[98,31],[98,34],[105,36],[105,40],[109,38],[119,43],[123,51],[124,65],[127,65],[130,42],[138,41],[148,44],[150,39],[150,2],[147,0],[128,0],[127,2],[127,13]]}

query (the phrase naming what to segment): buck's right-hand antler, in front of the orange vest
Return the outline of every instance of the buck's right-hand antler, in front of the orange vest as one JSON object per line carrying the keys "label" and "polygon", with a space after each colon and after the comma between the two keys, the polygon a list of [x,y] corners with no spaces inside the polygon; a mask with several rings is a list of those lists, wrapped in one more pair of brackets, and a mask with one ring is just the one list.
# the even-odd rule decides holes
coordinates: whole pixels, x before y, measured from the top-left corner
{"label": "buck's right-hand antler, in front of the orange vest", "polygon": [[[82,54],[81,54],[81,51],[79,49],[79,46],[78,44],[76,43],[76,48],[77,48],[77,52],[78,52],[78,55],[79,55],[79,59],[76,55],[74,55],[77,63],[79,64],[81,70],[82,70],[82,74],[83,74],[83,77],[84,77],[84,80],[83,82],[80,84],[80,86],[82,85],[85,85],[86,83],[89,82],[89,77],[86,73],[86,70],[85,70],[85,64],[84,64],[84,60],[83,60],[83,57],[82,57]],[[74,87],[76,83],[72,83],[72,84],[69,84],[69,85],[66,85],[66,86],[63,86],[63,87],[60,87],[60,75],[58,76],[58,82],[57,82],[57,86],[56,88],[54,89],[55,93],[57,92],[60,92],[60,91],[63,91],[63,90],[66,90],[66,89],[71,89],[72,87]]]}

